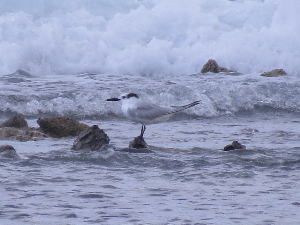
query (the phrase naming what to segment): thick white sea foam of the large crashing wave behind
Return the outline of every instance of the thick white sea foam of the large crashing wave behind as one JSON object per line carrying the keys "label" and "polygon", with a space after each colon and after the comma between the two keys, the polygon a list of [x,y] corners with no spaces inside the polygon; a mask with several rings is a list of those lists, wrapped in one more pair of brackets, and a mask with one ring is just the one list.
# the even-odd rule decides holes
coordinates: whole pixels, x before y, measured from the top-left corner
{"label": "thick white sea foam of the large crashing wave behind", "polygon": [[299,1],[0,2],[0,73],[197,73],[209,59],[241,73],[300,71]]}

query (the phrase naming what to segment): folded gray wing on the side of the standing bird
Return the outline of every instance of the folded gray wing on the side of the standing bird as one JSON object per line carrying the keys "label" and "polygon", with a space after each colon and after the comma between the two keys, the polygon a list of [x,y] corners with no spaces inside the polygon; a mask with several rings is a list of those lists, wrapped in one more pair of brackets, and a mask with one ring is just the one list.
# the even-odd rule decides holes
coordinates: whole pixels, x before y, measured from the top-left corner
{"label": "folded gray wing on the side of the standing bird", "polygon": [[152,120],[172,111],[172,108],[161,107],[149,102],[138,102],[134,107],[128,108],[128,114],[134,118]]}

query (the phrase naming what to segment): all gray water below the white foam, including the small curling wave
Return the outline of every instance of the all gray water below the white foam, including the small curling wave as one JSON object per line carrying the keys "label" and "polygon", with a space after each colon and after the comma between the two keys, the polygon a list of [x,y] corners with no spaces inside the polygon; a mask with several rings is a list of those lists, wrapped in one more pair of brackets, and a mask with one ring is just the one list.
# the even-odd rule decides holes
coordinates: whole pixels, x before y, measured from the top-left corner
{"label": "all gray water below the white foam, including the small curling wave", "polygon": [[[0,77],[0,121],[24,114],[98,125],[124,148],[140,133],[117,102],[135,92],[161,105],[201,104],[147,125],[154,153],[72,152],[74,138],[0,140],[1,224],[297,224],[296,76],[236,73],[164,78],[124,74]],[[239,141],[245,150],[223,152]]]}

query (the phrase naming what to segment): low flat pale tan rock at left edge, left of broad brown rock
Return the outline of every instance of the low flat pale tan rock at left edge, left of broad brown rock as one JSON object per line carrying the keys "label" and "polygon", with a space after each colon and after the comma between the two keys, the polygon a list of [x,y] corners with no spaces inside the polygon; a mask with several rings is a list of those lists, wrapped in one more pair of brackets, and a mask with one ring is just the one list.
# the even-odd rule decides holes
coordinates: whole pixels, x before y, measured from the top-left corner
{"label": "low flat pale tan rock at left edge, left of broad brown rock", "polygon": [[35,128],[13,128],[4,127],[0,128],[0,139],[15,139],[19,141],[29,141],[29,140],[43,140],[48,138],[44,133],[36,131]]}

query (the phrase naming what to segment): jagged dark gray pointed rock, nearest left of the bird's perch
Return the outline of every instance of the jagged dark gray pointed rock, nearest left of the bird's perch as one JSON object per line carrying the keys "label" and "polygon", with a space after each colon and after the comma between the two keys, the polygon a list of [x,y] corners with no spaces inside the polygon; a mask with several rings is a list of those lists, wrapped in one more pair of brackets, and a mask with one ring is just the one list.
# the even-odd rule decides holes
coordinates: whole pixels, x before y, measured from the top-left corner
{"label": "jagged dark gray pointed rock, nearest left of the bird's perch", "polygon": [[72,150],[97,150],[108,145],[110,138],[97,125],[82,131],[73,143]]}

